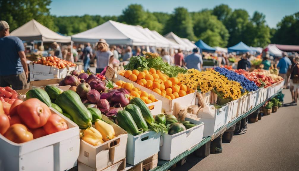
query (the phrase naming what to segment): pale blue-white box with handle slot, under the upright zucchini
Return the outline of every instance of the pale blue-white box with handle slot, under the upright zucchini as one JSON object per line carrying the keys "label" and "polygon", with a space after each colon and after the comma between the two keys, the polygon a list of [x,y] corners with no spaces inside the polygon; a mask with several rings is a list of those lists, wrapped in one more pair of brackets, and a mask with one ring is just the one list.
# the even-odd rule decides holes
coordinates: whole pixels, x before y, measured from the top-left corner
{"label": "pale blue-white box with handle slot, under the upright zucchini", "polygon": [[154,131],[144,132],[135,136],[128,134],[126,162],[136,165],[158,153],[160,149],[160,135],[160,133]]}

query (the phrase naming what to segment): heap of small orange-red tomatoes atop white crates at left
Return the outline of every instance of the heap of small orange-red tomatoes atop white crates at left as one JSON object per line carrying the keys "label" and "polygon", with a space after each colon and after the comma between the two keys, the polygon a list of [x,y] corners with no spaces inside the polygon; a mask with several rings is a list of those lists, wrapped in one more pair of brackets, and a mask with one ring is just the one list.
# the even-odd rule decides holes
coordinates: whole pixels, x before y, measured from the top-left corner
{"label": "heap of small orange-red tomatoes atop white crates at left", "polygon": [[41,59],[34,61],[33,63],[51,66],[59,69],[66,68],[67,65],[69,67],[77,66],[73,62],[63,60],[58,57],[42,57]]}

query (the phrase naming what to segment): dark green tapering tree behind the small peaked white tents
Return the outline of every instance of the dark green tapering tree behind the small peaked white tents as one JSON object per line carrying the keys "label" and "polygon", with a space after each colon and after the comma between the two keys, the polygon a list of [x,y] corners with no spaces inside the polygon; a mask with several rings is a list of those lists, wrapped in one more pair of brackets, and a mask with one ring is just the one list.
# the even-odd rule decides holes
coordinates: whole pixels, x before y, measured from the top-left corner
{"label": "dark green tapering tree behind the small peaked white tents", "polygon": [[196,36],[193,32],[192,18],[186,8],[178,7],[174,9],[166,25],[167,27],[164,28],[164,34],[172,31],[179,37],[196,40]]}

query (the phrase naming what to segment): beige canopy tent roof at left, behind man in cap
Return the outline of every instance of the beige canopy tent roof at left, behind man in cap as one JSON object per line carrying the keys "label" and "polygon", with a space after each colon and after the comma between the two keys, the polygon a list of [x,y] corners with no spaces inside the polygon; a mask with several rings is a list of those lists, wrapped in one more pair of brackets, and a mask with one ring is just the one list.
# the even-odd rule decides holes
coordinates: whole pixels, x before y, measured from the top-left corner
{"label": "beige canopy tent roof at left, behind man in cap", "polygon": [[23,41],[41,40],[43,42],[71,42],[71,36],[62,36],[32,19],[21,27],[13,30],[11,36],[17,36]]}

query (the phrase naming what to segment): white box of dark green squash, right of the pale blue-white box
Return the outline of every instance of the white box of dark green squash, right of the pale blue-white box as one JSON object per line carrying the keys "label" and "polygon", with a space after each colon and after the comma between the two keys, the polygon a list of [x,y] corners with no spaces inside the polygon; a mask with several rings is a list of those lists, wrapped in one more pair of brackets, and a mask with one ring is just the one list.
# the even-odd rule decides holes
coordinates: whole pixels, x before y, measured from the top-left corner
{"label": "white box of dark green squash, right of the pale blue-white box", "polygon": [[173,135],[162,135],[162,145],[158,153],[158,158],[170,161],[176,156],[180,155],[182,152],[190,149],[202,141],[205,124],[200,121],[191,121],[191,119],[190,122],[195,124],[199,123],[199,125]]}

